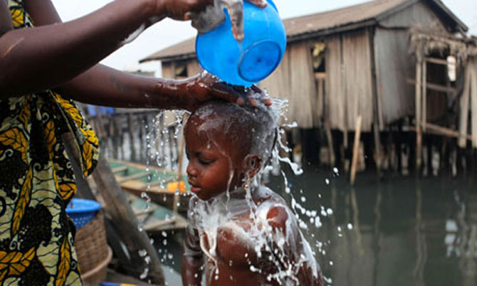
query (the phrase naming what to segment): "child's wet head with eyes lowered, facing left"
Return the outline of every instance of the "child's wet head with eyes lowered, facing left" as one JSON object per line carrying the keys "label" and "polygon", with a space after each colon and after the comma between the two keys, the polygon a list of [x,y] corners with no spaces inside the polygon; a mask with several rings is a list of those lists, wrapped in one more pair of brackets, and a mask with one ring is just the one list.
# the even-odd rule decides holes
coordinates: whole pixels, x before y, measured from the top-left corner
{"label": "child's wet head with eyes lowered, facing left", "polygon": [[261,169],[271,156],[276,120],[264,105],[211,101],[192,113],[184,135],[189,184],[208,200]]}

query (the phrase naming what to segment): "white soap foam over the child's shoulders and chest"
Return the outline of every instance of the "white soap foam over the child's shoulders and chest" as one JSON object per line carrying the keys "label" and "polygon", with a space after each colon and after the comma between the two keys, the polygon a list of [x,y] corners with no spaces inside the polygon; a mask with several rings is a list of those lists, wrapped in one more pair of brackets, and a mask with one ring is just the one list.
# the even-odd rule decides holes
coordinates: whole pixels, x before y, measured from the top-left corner
{"label": "white soap foam over the child's shoulders and chest", "polygon": [[[273,265],[276,272],[268,274],[268,281],[279,282],[281,285],[297,285],[298,272],[303,266],[310,268],[313,276],[317,278],[319,268],[313,251],[299,231],[295,216],[283,198],[265,186],[254,186],[251,189],[253,191],[242,188],[231,191],[229,198],[225,194],[209,201],[193,198],[195,206],[191,221],[199,230],[201,250],[214,265],[214,268],[206,269],[207,279],[220,275],[216,272],[217,260],[221,259],[217,253],[217,240],[219,231],[224,229],[233,233],[234,239],[243,247],[255,251],[257,261],[268,260],[268,265],[251,263],[252,272],[262,273],[263,268],[270,269],[269,265]],[[243,199],[244,196],[248,198]],[[257,205],[251,199],[252,196],[267,199]],[[283,207],[288,215],[283,230],[274,229],[267,218],[268,212],[276,206]],[[244,221],[243,216],[251,219]]]}

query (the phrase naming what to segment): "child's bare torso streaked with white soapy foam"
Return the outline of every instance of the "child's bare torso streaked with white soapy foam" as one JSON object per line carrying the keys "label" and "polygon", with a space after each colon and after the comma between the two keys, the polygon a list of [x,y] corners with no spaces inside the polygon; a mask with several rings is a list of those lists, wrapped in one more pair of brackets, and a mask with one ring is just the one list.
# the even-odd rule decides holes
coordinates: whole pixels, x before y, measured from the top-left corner
{"label": "child's bare torso streaked with white soapy foam", "polygon": [[[209,208],[206,203],[199,203],[196,223],[201,249],[206,256],[207,285],[295,285],[277,279],[284,273],[276,272],[288,268],[280,261],[281,255],[293,256],[288,259],[295,261],[304,249],[286,245],[285,248],[294,251],[285,254],[287,250],[283,249],[283,245],[277,245],[278,241],[288,240],[296,234],[288,233],[285,238],[286,235],[271,230],[267,220],[268,211],[276,206],[283,206],[287,210],[288,207],[280,196],[263,189],[261,194],[252,199],[253,204],[243,198],[229,199],[226,204],[215,204]],[[298,238],[291,241],[298,241]],[[275,242],[274,245],[271,242]]]}

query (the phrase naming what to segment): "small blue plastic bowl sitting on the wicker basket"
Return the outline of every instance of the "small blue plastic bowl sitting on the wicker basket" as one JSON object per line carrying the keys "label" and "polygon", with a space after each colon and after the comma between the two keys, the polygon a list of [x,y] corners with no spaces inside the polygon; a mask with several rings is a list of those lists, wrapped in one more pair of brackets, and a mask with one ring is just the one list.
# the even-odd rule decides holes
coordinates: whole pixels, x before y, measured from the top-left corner
{"label": "small blue plastic bowl sitting on the wicker basket", "polygon": [[97,201],[73,198],[66,207],[66,213],[75,223],[76,229],[80,229],[95,217],[100,208],[101,205]]}

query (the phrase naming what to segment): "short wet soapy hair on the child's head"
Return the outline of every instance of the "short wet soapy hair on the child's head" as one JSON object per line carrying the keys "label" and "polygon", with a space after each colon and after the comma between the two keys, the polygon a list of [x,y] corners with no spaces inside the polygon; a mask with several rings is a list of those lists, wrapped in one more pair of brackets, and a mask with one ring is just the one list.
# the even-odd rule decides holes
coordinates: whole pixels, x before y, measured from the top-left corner
{"label": "short wet soapy hair on the child's head", "polygon": [[189,120],[194,117],[204,121],[201,129],[221,134],[242,157],[258,154],[263,161],[271,157],[277,120],[263,103],[253,107],[212,100],[195,110]]}

